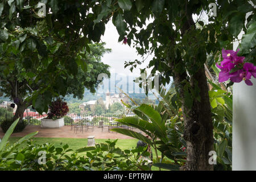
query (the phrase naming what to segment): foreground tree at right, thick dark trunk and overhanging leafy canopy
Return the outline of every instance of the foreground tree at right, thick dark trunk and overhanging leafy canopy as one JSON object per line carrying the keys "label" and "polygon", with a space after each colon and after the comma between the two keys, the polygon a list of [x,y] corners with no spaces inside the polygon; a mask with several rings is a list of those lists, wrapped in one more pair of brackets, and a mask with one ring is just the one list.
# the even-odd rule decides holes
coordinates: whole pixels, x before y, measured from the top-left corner
{"label": "foreground tree at right, thick dark trunk and overhanging leafy canopy", "polygon": [[[154,53],[148,68],[160,73],[160,84],[174,78],[177,96],[184,116],[184,138],[187,141],[187,162],[183,170],[212,170],[208,162],[213,150],[213,125],[204,64],[212,53],[209,66],[218,61],[221,49],[232,49],[241,30],[240,55],[255,64],[255,9],[249,1],[99,1],[101,13],[94,23],[112,16],[119,41],[134,40],[139,55]],[[209,12],[209,3],[217,5],[217,15],[205,24],[193,15]],[[246,13],[253,11],[247,18]],[[152,23],[146,25],[146,20]],[[100,20],[101,19],[101,20]],[[200,28],[196,27],[196,23]],[[143,27],[146,26],[146,27]],[[140,61],[130,61],[125,67],[136,68]],[[142,73],[145,69],[142,69]]]}

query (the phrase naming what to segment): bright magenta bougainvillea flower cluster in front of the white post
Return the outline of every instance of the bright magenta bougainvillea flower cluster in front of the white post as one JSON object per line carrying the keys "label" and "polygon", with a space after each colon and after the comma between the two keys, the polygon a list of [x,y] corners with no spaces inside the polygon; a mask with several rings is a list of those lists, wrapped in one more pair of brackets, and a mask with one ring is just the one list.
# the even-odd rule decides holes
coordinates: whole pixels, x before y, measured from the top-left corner
{"label": "bright magenta bougainvillea flower cluster in front of the white post", "polygon": [[218,81],[224,82],[230,79],[232,82],[241,82],[245,80],[247,85],[253,85],[250,81],[251,76],[256,78],[256,67],[253,63],[243,63],[245,57],[237,56],[237,51],[222,49],[223,61],[216,66],[221,69],[218,75]]}

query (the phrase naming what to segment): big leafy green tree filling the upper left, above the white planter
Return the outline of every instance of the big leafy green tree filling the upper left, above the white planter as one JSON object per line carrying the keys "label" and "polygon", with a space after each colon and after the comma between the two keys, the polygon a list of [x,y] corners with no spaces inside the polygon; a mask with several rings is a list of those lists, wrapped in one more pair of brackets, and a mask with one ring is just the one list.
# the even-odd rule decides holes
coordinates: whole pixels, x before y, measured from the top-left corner
{"label": "big leafy green tree filling the upper left, above the white planter", "polygon": [[100,58],[110,49],[104,43],[91,44],[99,41],[97,32],[86,36],[86,9],[79,9],[76,2],[42,2],[46,16],[36,13],[36,1],[0,3],[1,90],[17,105],[14,119],[22,118],[30,105],[39,113],[47,112],[54,97],[81,98],[84,86],[95,92],[101,81],[98,74],[109,75],[108,65],[100,63]]}

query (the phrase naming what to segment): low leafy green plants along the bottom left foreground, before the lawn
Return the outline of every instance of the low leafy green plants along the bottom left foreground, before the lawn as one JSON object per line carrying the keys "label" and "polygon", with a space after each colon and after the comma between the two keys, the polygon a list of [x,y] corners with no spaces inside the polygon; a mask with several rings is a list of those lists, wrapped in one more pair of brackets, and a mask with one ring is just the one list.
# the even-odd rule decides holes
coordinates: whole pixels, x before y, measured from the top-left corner
{"label": "low leafy green plants along the bottom left foreground, before the lawn", "polygon": [[[29,140],[38,132],[31,133],[9,146],[8,139],[18,123],[18,119],[11,125],[0,142],[0,170],[150,170],[146,159],[150,154],[146,148],[139,147],[132,150],[121,150],[115,147],[117,140],[107,140],[106,143],[96,144],[95,147],[83,147],[77,151],[69,148],[68,144],[55,147],[53,144],[35,144]],[[27,141],[21,149],[18,146]],[[86,156],[79,155],[86,152]],[[139,155],[138,153],[141,153]],[[146,160],[144,160],[146,159]]]}

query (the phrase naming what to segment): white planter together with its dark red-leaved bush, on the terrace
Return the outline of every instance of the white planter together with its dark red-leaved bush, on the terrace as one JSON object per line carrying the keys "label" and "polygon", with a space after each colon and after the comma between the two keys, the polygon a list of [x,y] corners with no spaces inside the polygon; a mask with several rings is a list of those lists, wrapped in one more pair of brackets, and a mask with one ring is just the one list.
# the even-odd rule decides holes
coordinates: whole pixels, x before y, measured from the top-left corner
{"label": "white planter together with its dark red-leaved bush, on the terrace", "polygon": [[68,111],[67,102],[63,102],[58,98],[49,106],[48,117],[41,120],[41,127],[59,128],[64,126],[64,115],[66,115]]}

